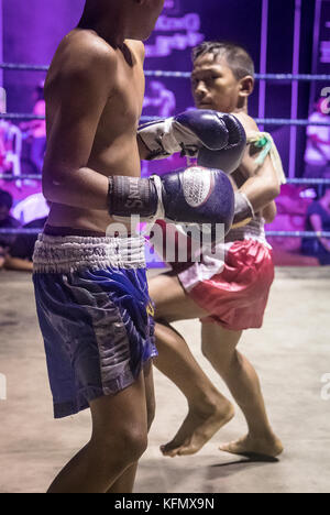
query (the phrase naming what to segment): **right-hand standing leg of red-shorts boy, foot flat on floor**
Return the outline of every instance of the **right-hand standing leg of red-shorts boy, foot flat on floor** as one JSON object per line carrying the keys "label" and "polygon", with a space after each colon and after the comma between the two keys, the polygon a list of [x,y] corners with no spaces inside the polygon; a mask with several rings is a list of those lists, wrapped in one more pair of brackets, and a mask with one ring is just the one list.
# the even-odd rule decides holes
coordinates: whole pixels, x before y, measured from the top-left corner
{"label": "right-hand standing leg of red-shorts boy, foot flat on floor", "polygon": [[226,382],[249,427],[246,437],[220,449],[235,454],[256,453],[275,458],[283,452],[283,446],[271,427],[256,372],[237,350],[241,336],[242,331],[202,324],[202,352]]}

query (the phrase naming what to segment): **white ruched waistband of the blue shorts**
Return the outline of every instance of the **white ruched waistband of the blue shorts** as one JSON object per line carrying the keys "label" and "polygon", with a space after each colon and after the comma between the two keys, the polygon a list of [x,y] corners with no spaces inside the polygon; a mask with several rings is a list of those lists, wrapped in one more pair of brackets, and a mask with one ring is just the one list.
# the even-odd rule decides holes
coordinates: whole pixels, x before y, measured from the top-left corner
{"label": "white ruched waistband of the blue shorts", "polygon": [[34,273],[70,273],[81,269],[145,269],[145,240],[132,238],[53,237],[40,234]]}

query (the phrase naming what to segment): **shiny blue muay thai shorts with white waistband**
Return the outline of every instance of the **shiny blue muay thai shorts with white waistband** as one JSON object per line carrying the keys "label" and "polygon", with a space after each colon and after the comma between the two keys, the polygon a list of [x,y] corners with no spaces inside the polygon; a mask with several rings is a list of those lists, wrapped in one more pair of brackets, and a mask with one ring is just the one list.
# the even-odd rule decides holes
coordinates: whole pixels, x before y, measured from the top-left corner
{"label": "shiny blue muay thai shorts with white waistband", "polygon": [[132,385],[157,355],[144,239],[41,234],[33,283],[55,418]]}

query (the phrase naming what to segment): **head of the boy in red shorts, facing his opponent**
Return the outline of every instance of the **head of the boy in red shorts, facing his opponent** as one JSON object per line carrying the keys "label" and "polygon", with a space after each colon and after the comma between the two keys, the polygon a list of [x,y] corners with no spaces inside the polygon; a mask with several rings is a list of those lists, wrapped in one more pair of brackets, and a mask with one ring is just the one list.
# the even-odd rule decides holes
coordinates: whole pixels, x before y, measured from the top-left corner
{"label": "head of the boy in red shorts, facing his opponent", "polygon": [[193,95],[200,109],[234,112],[248,108],[254,64],[240,45],[206,42],[193,51]]}

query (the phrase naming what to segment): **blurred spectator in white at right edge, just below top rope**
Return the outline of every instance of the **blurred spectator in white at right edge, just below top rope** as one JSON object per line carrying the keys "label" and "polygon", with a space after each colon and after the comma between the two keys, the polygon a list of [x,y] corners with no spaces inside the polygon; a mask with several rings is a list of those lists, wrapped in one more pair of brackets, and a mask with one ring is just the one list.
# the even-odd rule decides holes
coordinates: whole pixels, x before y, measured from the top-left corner
{"label": "blurred spectator in white at right edge, just below top rope", "polygon": [[[320,98],[309,122],[330,122],[328,99]],[[330,127],[309,125],[305,153],[306,178],[330,178]]]}

